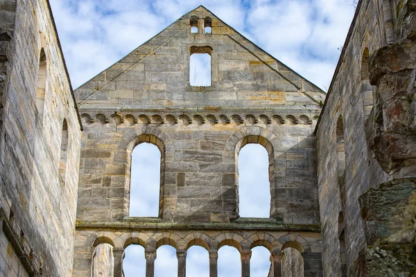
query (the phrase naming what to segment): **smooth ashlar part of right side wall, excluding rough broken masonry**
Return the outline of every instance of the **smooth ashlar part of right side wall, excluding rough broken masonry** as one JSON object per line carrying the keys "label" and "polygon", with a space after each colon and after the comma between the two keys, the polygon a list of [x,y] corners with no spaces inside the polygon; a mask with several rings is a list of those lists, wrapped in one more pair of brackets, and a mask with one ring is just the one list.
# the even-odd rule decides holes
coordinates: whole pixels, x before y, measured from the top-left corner
{"label": "smooth ashlar part of right side wall, excluding rough broken masonry", "polygon": [[[370,150],[373,112],[365,118],[365,97],[368,83],[361,81],[361,62],[365,48],[370,55],[387,43],[383,1],[360,1],[356,19],[347,37],[338,69],[318,123],[318,184],[325,276],[340,276],[341,261],[338,240],[338,214],[345,218],[347,268],[365,246],[363,223],[358,197],[387,178]],[[390,3],[390,1],[384,1]],[[368,106],[367,106],[368,107]],[[345,141],[345,208],[340,201],[336,125],[343,118]],[[339,150],[338,150],[339,152]]]}

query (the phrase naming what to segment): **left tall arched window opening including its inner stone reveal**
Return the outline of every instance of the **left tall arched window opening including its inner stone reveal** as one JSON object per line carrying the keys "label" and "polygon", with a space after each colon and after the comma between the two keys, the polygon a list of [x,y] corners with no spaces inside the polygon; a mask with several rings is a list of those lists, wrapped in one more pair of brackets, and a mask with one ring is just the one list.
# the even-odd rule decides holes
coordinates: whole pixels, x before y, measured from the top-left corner
{"label": "left tall arched window opening including its inner stone reveal", "polygon": [[[161,217],[164,191],[164,145],[143,134],[132,142],[129,216]],[[130,150],[128,149],[128,155]]]}

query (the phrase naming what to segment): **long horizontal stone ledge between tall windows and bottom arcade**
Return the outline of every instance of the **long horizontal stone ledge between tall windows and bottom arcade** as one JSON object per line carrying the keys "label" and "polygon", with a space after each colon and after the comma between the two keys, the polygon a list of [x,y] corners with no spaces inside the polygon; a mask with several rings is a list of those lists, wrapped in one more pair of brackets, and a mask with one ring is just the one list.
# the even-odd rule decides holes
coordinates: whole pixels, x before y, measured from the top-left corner
{"label": "long horizontal stone ledge between tall windows and bottom arcade", "polygon": [[164,230],[263,230],[263,231],[309,231],[320,233],[319,224],[281,224],[274,219],[243,218],[230,223],[179,223],[164,222],[157,217],[130,217],[119,222],[77,221],[76,229],[164,229]]}

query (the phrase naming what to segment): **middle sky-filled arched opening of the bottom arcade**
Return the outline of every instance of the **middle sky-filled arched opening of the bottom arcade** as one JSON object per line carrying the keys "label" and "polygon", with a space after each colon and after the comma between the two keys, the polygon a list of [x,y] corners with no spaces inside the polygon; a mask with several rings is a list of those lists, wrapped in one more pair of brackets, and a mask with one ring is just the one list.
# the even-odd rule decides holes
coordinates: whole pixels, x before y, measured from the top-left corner
{"label": "middle sky-filled arched opening of the bottom arcade", "polygon": [[187,276],[209,277],[207,249],[194,245],[187,250]]}

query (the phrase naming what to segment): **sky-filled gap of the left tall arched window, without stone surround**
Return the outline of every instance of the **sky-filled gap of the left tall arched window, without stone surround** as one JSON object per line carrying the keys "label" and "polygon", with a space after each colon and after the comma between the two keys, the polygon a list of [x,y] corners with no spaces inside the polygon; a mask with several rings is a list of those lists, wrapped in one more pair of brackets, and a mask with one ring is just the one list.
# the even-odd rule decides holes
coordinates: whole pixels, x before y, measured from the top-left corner
{"label": "sky-filled gap of the left tall arched window, without stone surround", "polygon": [[132,151],[129,216],[159,216],[161,153],[152,143]]}

